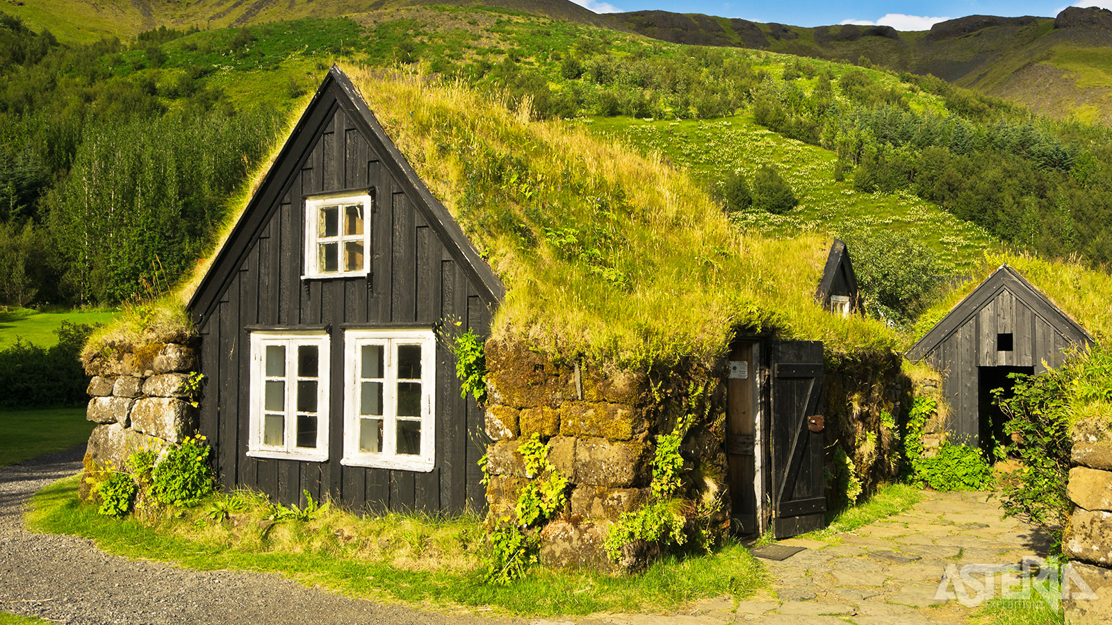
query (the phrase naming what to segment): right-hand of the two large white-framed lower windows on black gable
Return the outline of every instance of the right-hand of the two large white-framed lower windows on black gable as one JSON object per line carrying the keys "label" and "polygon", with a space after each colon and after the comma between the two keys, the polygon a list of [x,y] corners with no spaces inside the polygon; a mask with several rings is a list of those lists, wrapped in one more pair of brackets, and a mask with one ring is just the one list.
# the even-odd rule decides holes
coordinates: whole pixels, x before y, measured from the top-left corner
{"label": "right-hand of the two large white-framed lower windows on black gable", "polygon": [[345,465],[428,472],[435,464],[433,330],[347,330]]}

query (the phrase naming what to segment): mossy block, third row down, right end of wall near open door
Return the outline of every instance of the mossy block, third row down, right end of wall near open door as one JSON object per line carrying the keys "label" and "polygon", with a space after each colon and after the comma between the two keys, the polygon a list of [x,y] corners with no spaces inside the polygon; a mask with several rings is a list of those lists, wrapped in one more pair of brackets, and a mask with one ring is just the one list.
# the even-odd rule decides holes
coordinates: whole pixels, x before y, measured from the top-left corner
{"label": "mossy block, third row down, right end of wall near open door", "polygon": [[613,488],[647,486],[652,454],[645,437],[622,442],[580,438],[575,446],[576,482]]}

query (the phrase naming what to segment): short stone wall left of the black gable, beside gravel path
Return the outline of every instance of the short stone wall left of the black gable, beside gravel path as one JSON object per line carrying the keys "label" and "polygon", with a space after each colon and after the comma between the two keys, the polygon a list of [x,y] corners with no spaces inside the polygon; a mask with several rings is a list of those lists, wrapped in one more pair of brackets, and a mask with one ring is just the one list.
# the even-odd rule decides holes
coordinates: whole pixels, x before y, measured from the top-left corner
{"label": "short stone wall left of the black gable, beside gravel path", "polygon": [[[108,463],[123,468],[135,452],[160,449],[196,431],[197,410],[183,387],[196,369],[195,350],[172,343],[92,358],[86,366],[92,376],[86,418],[98,425],[89,437],[86,472]],[[82,479],[82,498],[87,488]]]}

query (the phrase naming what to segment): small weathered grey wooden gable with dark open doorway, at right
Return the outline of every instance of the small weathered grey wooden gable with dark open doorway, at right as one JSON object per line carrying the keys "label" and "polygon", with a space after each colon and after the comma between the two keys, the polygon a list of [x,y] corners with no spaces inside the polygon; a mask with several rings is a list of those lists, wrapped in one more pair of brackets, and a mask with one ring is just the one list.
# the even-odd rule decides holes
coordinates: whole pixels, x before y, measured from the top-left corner
{"label": "small weathered grey wooden gable with dark open doorway, at right", "polygon": [[1017,270],[1002,265],[907,350],[942,373],[950,407],[947,434],[972,446],[1004,438],[993,389],[1011,388],[1012,374],[1056,368],[1090,336]]}

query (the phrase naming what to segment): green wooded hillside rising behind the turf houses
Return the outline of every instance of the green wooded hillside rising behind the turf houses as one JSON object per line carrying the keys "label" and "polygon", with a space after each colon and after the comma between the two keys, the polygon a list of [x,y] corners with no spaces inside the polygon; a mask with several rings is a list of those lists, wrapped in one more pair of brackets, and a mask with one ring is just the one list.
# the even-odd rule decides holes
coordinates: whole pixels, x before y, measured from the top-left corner
{"label": "green wooded hillside rising behind the turf houses", "polygon": [[584,120],[712,194],[774,165],[800,206],[731,216],[765,237],[901,232],[935,252],[939,274],[1005,247],[1112,259],[1103,129],[910,73],[417,6],[88,46],[3,19],[0,272],[19,279],[0,284],[57,304],[165,292],[334,61],[458,81],[533,120]]}

